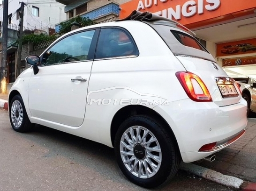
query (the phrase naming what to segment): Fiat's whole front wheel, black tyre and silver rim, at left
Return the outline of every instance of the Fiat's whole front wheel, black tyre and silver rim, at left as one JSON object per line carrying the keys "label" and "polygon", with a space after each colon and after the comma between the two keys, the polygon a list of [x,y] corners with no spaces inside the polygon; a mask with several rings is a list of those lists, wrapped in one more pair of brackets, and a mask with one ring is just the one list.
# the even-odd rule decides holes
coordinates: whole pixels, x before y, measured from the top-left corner
{"label": "Fiat's whole front wheel, black tyre and silver rim, at left", "polygon": [[27,132],[34,125],[28,118],[23,99],[20,95],[15,95],[11,100],[9,118],[13,129],[17,132]]}

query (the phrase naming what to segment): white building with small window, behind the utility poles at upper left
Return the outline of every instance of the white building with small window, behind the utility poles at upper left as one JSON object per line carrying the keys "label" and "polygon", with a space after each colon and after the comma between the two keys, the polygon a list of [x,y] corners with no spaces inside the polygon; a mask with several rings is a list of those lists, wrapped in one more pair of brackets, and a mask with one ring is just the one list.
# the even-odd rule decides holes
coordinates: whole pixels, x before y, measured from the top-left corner
{"label": "white building with small window, behind the utility poles at upper left", "polygon": [[[19,24],[20,0],[9,0],[8,23]],[[24,7],[25,28],[47,30],[55,28],[56,23],[66,20],[64,5],[53,0],[26,0]],[[3,21],[3,5],[0,6],[0,21]]]}

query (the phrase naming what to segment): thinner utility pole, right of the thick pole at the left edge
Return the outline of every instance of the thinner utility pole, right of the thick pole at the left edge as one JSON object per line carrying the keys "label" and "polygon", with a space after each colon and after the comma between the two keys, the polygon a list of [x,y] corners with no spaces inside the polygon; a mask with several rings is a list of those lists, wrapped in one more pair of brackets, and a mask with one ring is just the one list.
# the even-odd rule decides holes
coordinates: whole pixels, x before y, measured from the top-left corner
{"label": "thinner utility pole, right of the thick pole at the left edge", "polygon": [[25,3],[21,2],[21,11],[19,12],[20,15],[20,31],[19,31],[19,46],[18,46],[18,56],[17,56],[17,65],[16,65],[16,72],[15,72],[15,79],[21,73],[21,53],[22,53],[22,38],[23,38],[23,17],[24,17],[24,6]]}

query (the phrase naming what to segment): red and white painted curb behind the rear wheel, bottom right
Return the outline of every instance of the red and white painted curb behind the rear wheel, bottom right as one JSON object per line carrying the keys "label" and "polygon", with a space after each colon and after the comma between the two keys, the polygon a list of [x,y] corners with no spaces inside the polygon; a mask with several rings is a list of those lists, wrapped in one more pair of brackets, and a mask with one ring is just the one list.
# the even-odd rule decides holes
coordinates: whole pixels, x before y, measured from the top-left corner
{"label": "red and white painted curb behind the rear wheel, bottom right", "polygon": [[215,170],[207,169],[192,163],[181,163],[180,170],[198,177],[241,191],[256,191],[256,183],[247,183],[242,179],[227,176]]}

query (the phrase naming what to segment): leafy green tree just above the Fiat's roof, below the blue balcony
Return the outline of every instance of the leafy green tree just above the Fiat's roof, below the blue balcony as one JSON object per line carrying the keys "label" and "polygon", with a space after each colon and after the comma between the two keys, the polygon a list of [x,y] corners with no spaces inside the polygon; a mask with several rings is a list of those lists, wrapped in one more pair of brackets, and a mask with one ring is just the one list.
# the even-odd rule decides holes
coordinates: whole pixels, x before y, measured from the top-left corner
{"label": "leafy green tree just above the Fiat's roof, below the blue balcony", "polygon": [[60,22],[60,35],[64,35],[71,31],[71,23],[78,22],[81,27],[90,26],[96,24],[95,22],[91,21],[89,18],[77,16],[74,18],[69,19],[68,21]]}

